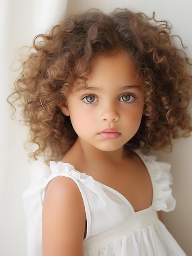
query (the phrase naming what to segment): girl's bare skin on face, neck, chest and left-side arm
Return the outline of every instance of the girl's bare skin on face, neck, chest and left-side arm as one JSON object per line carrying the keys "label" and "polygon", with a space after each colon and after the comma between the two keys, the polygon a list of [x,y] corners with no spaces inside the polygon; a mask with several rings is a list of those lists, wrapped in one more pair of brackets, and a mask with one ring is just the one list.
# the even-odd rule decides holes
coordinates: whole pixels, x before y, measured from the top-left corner
{"label": "girl's bare skin on face, neck, chest and left-side arm", "polygon": [[[75,84],[61,108],[78,135],[62,162],[119,191],[135,211],[141,211],[152,203],[152,184],[141,159],[124,144],[141,123],[142,80],[123,51],[97,56],[92,67],[87,88]],[[79,189],[70,178],[56,177],[47,188],[42,235],[44,256],[83,256],[86,215]]]}

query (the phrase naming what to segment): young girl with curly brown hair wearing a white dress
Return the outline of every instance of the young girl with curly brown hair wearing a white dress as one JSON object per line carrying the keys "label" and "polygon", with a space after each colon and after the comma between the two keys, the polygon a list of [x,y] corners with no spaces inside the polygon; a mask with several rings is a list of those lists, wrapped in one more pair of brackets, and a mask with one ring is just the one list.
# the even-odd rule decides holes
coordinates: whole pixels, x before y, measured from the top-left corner
{"label": "young girl with curly brown hair wearing a white dress", "polygon": [[144,155],[192,130],[190,64],[168,23],[90,10],[33,49],[14,95],[52,174],[23,195],[29,255],[185,255],[159,220],[175,207],[170,165]]}

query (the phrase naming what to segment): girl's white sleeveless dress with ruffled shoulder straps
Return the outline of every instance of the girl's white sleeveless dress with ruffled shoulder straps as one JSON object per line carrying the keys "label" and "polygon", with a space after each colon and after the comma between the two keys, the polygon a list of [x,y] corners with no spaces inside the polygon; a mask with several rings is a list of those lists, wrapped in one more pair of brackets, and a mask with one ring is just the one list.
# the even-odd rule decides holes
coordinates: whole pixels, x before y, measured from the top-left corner
{"label": "girl's white sleeveless dress with ruffled shoulder straps", "polygon": [[[28,220],[28,256],[42,255],[42,202],[49,182],[57,176],[71,178],[81,192],[87,220],[84,256],[184,256],[181,247],[157,217],[157,211],[172,211],[175,200],[170,184],[170,165],[135,150],[152,181],[149,208],[135,212],[121,193],[76,171],[68,163],[51,162],[52,174],[23,194]],[[51,221],[51,220],[50,220]]]}

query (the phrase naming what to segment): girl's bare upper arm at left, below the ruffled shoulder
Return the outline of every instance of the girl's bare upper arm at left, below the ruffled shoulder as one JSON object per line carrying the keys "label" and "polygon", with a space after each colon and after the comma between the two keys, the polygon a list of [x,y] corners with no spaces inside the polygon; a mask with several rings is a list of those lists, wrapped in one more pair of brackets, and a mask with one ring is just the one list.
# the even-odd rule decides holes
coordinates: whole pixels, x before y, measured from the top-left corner
{"label": "girl's bare upper arm at left, below the ruffled shoulder", "polygon": [[46,190],[42,213],[43,256],[83,256],[86,214],[77,184],[56,177]]}

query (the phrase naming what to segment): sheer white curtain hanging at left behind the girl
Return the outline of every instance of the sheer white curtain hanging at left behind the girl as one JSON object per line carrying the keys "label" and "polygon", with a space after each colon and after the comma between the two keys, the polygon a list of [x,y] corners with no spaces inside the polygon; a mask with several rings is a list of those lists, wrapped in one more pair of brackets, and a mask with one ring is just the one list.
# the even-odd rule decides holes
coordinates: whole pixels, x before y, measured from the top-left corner
{"label": "sheer white curtain hanging at left behind the girl", "polygon": [[[10,118],[6,102],[18,76],[18,60],[36,34],[64,15],[67,0],[0,1],[0,255],[26,256],[27,231],[23,191],[45,174],[42,162],[28,162],[23,141],[27,128]],[[16,119],[20,119],[17,110]],[[40,171],[40,169],[42,171]]]}

